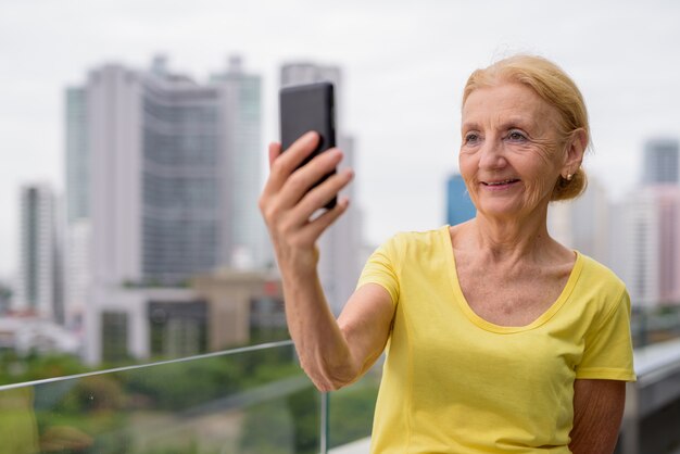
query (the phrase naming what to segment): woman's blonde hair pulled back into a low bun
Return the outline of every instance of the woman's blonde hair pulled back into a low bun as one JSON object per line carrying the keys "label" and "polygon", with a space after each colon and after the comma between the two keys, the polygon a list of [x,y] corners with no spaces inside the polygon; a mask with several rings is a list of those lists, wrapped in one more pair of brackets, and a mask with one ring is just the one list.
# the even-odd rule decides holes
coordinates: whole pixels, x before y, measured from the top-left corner
{"label": "woman's blonde hair pulled back into a low bun", "polygon": [[[556,64],[537,55],[514,55],[500,60],[491,66],[470,74],[463,91],[463,105],[469,94],[478,88],[502,83],[522,84],[536,91],[559,113],[558,133],[562,143],[571,139],[575,131],[585,133],[588,148],[591,147],[588,111],[583,96],[574,80]],[[588,186],[583,168],[579,167],[570,180],[559,176],[553,188],[551,201],[579,197]]]}

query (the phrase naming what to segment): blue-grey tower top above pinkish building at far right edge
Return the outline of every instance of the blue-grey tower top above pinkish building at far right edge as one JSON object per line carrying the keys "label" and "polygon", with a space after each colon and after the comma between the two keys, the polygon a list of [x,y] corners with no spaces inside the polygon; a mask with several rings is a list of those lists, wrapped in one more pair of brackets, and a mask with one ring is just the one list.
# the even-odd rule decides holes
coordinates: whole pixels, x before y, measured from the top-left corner
{"label": "blue-grey tower top above pinkish building at far right edge", "polygon": [[642,182],[645,186],[679,182],[677,139],[657,138],[644,144]]}

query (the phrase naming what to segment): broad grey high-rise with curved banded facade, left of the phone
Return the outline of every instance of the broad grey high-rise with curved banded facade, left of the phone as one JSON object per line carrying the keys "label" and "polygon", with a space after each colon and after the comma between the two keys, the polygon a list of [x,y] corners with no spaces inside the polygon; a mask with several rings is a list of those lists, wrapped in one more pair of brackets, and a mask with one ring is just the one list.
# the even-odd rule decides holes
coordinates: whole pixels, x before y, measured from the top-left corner
{"label": "broad grey high-rise with curved banded facade, left of the phone", "polygon": [[224,263],[216,90],[108,65],[87,91],[96,283],[174,285]]}

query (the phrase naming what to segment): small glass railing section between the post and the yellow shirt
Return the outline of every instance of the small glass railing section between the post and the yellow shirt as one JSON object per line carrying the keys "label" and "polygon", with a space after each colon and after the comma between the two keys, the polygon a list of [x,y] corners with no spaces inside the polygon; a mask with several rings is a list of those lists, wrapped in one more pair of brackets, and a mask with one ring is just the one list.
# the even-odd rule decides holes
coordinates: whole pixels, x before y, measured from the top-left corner
{"label": "small glass railing section between the post and the yellow shirt", "polygon": [[328,396],[328,446],[351,444],[370,437],[382,365],[377,364],[355,383]]}

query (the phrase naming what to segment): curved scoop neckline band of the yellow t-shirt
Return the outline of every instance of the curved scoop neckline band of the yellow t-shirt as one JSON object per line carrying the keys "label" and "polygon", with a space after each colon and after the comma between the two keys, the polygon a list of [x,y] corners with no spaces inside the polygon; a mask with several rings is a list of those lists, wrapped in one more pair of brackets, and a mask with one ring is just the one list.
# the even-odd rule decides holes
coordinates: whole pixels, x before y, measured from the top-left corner
{"label": "curved scoop neckline band of the yellow t-shirt", "polygon": [[449,281],[451,282],[451,287],[455,297],[454,299],[457,302],[461,310],[463,311],[463,313],[467,316],[467,318],[474,325],[487,331],[498,332],[498,333],[513,333],[513,332],[529,331],[531,329],[536,329],[544,325],[567,302],[567,300],[569,299],[569,295],[571,294],[571,292],[574,291],[574,288],[576,287],[576,283],[581,274],[581,269],[583,267],[583,256],[578,251],[574,251],[576,253],[576,261],[574,263],[574,267],[571,268],[571,273],[569,274],[569,278],[567,279],[567,283],[565,285],[564,289],[562,289],[562,292],[559,293],[559,297],[557,297],[557,300],[555,300],[555,302],[553,302],[553,304],[551,304],[551,306],[547,310],[545,310],[545,312],[543,312],[539,317],[537,317],[533,321],[531,321],[528,325],[524,325],[524,326],[496,325],[479,316],[475,311],[473,311],[473,308],[468,304],[465,295],[463,294],[461,282],[458,281],[458,272],[456,269],[455,255],[453,252],[453,242],[451,241],[450,226],[449,225],[444,226],[440,231],[444,236],[442,240],[444,244],[446,245],[446,248],[444,248],[444,250],[446,251],[446,256],[448,256],[446,268],[449,268],[449,273],[450,273]]}

